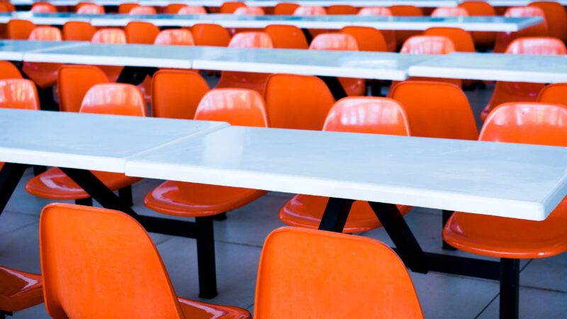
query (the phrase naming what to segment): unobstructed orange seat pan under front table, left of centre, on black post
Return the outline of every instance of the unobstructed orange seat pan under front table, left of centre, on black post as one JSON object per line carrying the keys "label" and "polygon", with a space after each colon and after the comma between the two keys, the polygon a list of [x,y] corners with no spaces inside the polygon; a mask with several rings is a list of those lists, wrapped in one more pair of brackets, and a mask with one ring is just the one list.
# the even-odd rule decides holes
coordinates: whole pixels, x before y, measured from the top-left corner
{"label": "unobstructed orange seat pan under front table, left of centre, on black post", "polygon": [[240,208],[265,193],[257,189],[164,181],[146,195],[144,203],[159,213],[204,217]]}

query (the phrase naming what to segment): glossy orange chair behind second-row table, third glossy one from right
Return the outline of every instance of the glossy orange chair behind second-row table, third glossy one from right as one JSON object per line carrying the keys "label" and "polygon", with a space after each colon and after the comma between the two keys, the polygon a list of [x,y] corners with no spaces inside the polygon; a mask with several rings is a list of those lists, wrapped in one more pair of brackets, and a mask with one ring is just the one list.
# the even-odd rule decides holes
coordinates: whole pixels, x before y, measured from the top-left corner
{"label": "glossy orange chair behind second-row table, third glossy one from right", "polygon": [[[358,51],[359,45],[357,39],[347,33],[322,33],[313,39],[309,50]],[[361,96],[366,91],[364,79],[339,77],[339,82],[348,96]]]}

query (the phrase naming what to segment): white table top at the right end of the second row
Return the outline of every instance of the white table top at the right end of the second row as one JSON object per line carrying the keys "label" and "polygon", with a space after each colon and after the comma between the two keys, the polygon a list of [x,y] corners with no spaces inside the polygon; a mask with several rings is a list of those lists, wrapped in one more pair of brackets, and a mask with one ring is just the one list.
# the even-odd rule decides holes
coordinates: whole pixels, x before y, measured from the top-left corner
{"label": "white table top at the right end of the second row", "polygon": [[412,65],[409,74],[490,81],[567,82],[567,56],[451,53]]}

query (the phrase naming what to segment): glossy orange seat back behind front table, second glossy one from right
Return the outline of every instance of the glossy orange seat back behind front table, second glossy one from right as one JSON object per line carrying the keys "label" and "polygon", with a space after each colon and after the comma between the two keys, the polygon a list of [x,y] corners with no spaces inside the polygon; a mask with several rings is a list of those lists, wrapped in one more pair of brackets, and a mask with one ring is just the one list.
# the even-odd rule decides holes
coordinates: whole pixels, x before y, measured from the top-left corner
{"label": "glossy orange seat back behind front table, second glossy one from right", "polygon": [[410,135],[408,114],[397,101],[381,97],[347,97],[332,106],[323,130]]}

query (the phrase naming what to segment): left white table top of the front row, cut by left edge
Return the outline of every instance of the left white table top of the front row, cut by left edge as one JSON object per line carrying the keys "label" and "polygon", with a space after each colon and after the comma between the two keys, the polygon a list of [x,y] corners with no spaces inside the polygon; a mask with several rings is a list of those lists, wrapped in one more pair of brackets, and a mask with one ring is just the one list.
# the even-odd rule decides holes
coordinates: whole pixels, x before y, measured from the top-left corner
{"label": "left white table top of the front row, cut by left edge", "polygon": [[124,172],[128,157],[228,123],[0,108],[0,162]]}

